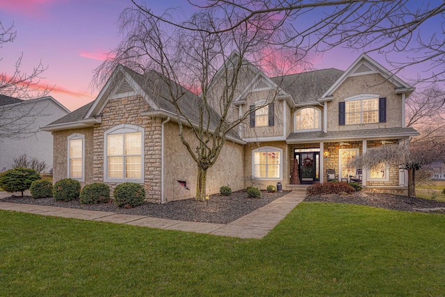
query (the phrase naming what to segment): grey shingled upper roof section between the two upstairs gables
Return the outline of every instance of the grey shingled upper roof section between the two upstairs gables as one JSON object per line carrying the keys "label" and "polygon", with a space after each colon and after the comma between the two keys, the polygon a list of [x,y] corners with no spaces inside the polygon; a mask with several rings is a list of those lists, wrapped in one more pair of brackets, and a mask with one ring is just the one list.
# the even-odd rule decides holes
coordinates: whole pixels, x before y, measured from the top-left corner
{"label": "grey shingled upper roof section between the two upstairs gables", "polygon": [[328,68],[272,77],[272,81],[293,97],[295,104],[317,102],[341,77],[343,70]]}

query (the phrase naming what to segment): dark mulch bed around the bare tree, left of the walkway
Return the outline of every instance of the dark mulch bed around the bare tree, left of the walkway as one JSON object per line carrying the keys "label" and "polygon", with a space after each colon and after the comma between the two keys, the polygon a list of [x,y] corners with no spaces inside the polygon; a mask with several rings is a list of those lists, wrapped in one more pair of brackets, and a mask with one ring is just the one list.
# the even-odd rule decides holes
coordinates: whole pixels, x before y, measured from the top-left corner
{"label": "dark mulch bed around the bare tree, left of the walkway", "polygon": [[93,211],[109,211],[118,214],[134,214],[138,216],[154,216],[156,218],[169,218],[171,220],[186,220],[202,223],[228,224],[250,214],[266,204],[273,202],[289,193],[267,193],[261,191],[261,198],[248,198],[246,191],[236,191],[230,196],[220,194],[210,195],[209,203],[197,202],[194,199],[172,201],[165,204],[145,202],[132,209],[121,209],[113,202],[106,204],[81,204],[79,200],[70,202],[56,201],[54,198],[33,199],[30,196],[3,198],[0,202],[13,202],[24,204],[38,204],[53,207],[65,207],[74,209],[87,209]]}

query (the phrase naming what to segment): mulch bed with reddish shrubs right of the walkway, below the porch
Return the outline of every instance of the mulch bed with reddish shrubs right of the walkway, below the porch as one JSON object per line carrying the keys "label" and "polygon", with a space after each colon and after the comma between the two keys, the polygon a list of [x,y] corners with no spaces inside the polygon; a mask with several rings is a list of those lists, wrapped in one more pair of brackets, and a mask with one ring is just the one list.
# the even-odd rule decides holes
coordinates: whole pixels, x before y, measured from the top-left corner
{"label": "mulch bed with reddish shrubs right of the walkway, below the porch", "polygon": [[[335,202],[367,205],[370,207],[380,207],[384,209],[400,211],[421,211],[419,209],[433,209],[444,207],[445,202],[435,200],[426,200],[422,198],[412,198],[402,195],[379,194],[379,193],[353,193],[351,195],[315,195],[305,198],[307,202]],[[434,211],[435,213],[445,214],[445,211]]]}

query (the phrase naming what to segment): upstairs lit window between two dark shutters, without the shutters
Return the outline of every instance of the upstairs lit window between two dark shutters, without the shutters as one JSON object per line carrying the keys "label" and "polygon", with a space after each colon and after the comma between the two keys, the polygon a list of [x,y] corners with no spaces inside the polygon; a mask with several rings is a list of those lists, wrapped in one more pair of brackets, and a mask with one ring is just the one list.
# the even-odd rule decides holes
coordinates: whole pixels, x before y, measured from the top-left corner
{"label": "upstairs lit window between two dark shutters, without the shutters", "polygon": [[346,125],[378,122],[378,97],[346,101]]}

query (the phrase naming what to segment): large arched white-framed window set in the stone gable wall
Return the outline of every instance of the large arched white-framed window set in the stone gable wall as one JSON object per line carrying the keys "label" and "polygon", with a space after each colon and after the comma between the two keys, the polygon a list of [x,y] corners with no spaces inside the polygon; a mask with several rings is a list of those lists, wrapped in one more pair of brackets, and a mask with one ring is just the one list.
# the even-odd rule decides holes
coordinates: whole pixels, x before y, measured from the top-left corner
{"label": "large arched white-framed window set in the stone gable wall", "polygon": [[104,181],[144,181],[144,129],[123,124],[104,134]]}

